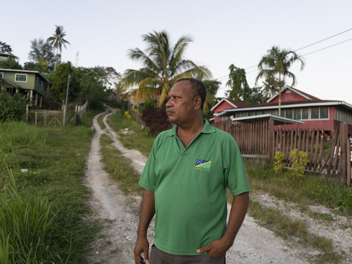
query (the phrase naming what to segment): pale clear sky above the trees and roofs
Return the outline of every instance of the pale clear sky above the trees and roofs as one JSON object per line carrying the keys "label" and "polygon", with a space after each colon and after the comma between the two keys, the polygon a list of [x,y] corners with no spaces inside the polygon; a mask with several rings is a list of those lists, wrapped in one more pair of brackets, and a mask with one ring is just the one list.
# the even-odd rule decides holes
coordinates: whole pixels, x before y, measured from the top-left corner
{"label": "pale clear sky above the trees and roofs", "polygon": [[[55,25],[64,27],[71,44],[62,49],[62,61],[113,67],[121,74],[142,67],[127,54],[128,49],[145,50],[143,34],[166,30],[174,43],[190,35],[193,42],[186,58],[206,66],[221,81],[218,97],[229,89],[231,64],[246,69],[247,82],[254,87],[257,65],[273,45],[297,50],[347,31],[297,51],[306,66],[300,71],[297,62],[290,71],[297,78],[296,89],[322,100],[352,104],[350,0],[19,0],[6,2],[6,10],[11,19],[3,19],[0,41],[11,45],[21,65],[29,61],[31,40],[51,37]],[[326,48],[340,42],[344,43]],[[320,51],[308,54],[316,50]],[[286,82],[291,85],[292,79]],[[258,85],[262,84],[259,79]]]}

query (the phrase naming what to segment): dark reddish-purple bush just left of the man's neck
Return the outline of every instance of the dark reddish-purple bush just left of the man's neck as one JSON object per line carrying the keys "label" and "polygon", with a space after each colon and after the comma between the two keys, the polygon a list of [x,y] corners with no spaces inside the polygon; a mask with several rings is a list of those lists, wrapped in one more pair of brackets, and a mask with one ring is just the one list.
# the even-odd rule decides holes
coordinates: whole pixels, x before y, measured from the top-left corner
{"label": "dark reddish-purple bush just left of the man's neck", "polygon": [[160,132],[168,130],[171,127],[166,112],[151,105],[143,110],[142,119],[146,126],[152,128],[153,136],[157,136]]}

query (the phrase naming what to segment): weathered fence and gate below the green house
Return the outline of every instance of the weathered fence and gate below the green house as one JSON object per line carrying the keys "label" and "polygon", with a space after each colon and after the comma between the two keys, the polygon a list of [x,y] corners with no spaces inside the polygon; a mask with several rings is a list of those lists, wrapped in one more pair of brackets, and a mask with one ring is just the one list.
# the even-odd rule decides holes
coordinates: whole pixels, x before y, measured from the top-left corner
{"label": "weathered fence and gate below the green house", "polygon": [[[75,125],[77,122],[77,115],[81,118],[83,113],[87,111],[88,100],[83,106],[75,107],[74,111],[66,112],[65,125]],[[34,124],[35,126],[62,126],[63,125],[63,111],[53,111],[53,110],[34,110],[30,111],[28,105],[26,108],[26,122],[29,124]]]}

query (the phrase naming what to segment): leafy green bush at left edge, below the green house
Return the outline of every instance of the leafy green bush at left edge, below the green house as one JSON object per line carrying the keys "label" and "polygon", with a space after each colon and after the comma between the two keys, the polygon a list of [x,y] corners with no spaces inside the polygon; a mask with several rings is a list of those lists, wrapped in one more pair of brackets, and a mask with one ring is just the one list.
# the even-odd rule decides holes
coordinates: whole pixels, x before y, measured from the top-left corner
{"label": "leafy green bush at left edge, below the green house", "polygon": [[0,88],[0,122],[20,121],[25,118],[26,104],[29,98],[15,93],[13,98],[5,94],[5,89]]}

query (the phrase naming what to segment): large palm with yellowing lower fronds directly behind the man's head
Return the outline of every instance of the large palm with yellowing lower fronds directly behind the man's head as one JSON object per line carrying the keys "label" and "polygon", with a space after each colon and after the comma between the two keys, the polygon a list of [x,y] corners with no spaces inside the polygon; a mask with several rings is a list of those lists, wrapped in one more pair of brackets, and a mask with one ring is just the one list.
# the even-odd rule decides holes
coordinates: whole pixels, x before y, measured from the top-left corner
{"label": "large palm with yellowing lower fronds directly behind the man's head", "polygon": [[189,36],[179,38],[175,46],[171,45],[166,31],[154,31],[142,35],[142,38],[147,44],[146,53],[136,48],[130,49],[128,56],[133,61],[142,62],[143,68],[127,69],[117,84],[120,90],[136,88],[130,93],[135,103],[157,99],[157,106],[161,107],[178,79],[207,80],[212,77],[206,67],[184,58],[184,51],[192,42]]}

